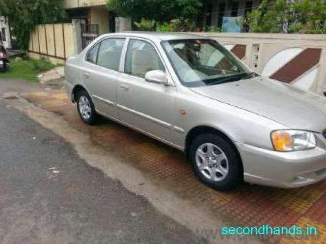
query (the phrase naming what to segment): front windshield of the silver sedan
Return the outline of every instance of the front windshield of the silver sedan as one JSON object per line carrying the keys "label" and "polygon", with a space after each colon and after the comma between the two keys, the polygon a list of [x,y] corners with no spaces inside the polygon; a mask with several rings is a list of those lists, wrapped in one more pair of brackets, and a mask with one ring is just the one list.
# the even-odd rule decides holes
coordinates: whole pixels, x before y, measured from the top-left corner
{"label": "front windshield of the silver sedan", "polygon": [[211,39],[164,41],[162,47],[185,86],[221,84],[257,76]]}

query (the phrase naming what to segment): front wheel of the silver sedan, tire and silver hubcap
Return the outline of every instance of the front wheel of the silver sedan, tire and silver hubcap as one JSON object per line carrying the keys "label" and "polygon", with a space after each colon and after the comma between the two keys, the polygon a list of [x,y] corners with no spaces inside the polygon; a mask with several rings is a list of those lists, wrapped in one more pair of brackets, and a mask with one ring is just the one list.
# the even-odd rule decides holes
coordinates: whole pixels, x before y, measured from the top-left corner
{"label": "front wheel of the silver sedan, tire and silver hubcap", "polygon": [[229,191],[243,179],[238,153],[223,137],[200,134],[192,141],[188,153],[195,175],[208,187]]}

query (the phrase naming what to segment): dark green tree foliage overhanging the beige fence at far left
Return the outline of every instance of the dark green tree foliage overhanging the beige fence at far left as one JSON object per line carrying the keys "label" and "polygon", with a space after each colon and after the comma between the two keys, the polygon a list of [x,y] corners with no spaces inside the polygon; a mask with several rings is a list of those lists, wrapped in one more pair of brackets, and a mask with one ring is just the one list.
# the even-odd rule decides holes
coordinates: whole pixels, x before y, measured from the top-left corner
{"label": "dark green tree foliage overhanging the beige fence at far left", "polygon": [[61,0],[0,0],[0,13],[9,18],[18,46],[27,50],[30,33],[37,24],[67,19]]}

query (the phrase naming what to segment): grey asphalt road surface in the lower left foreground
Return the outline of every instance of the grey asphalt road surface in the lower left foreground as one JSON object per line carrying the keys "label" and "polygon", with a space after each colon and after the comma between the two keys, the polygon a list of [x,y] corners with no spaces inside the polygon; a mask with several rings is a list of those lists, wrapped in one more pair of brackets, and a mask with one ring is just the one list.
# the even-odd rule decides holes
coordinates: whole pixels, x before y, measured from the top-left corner
{"label": "grey asphalt road surface in the lower left foreground", "polygon": [[0,243],[200,242],[4,101],[0,134]]}

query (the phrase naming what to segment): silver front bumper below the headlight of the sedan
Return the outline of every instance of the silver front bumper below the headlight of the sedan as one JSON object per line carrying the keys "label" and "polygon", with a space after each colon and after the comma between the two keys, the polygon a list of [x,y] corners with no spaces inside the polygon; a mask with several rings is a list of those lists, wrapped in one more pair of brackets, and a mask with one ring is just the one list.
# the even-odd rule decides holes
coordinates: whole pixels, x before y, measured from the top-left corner
{"label": "silver front bumper below the headlight of the sedan", "polygon": [[326,178],[326,150],[322,148],[282,153],[241,143],[236,146],[246,182],[295,188]]}

